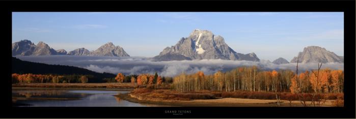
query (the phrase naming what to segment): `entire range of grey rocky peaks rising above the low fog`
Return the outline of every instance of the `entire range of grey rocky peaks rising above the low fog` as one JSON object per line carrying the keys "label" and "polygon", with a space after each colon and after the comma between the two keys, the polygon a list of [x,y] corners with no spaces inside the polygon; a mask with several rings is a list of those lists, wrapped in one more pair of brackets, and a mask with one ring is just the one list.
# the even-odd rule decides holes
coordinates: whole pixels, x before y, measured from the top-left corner
{"label": "entire range of grey rocky peaks rising above the low fog", "polygon": [[[12,55],[83,55],[83,56],[130,56],[120,46],[115,46],[112,42],[108,42],[94,51],[89,51],[86,48],[77,48],[67,52],[64,49],[54,50],[44,42],[39,42],[37,45],[30,40],[21,40],[12,44]],[[303,52],[299,52],[290,62],[280,57],[273,61],[273,64],[288,64],[296,63],[299,57],[299,63],[343,63],[344,57],[336,55],[334,52],[328,51],[319,46],[307,46]],[[163,49],[159,55],[152,58],[154,61],[181,61],[194,59],[226,59],[236,61],[254,61],[259,62],[260,59],[252,52],[242,54],[234,51],[228,46],[222,36],[215,36],[207,30],[195,29],[188,37],[182,37],[177,44]]]}

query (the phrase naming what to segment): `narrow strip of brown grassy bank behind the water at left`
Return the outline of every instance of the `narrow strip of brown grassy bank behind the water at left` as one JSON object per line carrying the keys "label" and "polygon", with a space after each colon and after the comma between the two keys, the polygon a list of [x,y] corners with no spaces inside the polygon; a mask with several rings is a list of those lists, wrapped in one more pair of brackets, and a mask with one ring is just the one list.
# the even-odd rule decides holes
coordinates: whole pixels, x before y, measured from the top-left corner
{"label": "narrow strip of brown grassy bank behind the water at left", "polygon": [[131,83],[16,83],[12,87],[59,87],[59,88],[121,88],[134,89]]}

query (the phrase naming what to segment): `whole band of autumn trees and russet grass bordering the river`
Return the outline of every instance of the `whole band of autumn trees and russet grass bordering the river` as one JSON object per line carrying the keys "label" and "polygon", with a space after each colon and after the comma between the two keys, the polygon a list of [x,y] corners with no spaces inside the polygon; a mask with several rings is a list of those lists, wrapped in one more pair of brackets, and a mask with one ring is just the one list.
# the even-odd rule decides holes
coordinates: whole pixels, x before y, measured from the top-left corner
{"label": "whole band of autumn trees and russet grass bordering the river", "polygon": [[19,70],[12,74],[12,87],[126,89],[133,91],[117,97],[173,106],[344,106],[344,71],[321,69],[321,65],[299,74],[297,63],[295,72],[242,66],[212,74],[182,72],[174,77],[157,72],[103,78]]}

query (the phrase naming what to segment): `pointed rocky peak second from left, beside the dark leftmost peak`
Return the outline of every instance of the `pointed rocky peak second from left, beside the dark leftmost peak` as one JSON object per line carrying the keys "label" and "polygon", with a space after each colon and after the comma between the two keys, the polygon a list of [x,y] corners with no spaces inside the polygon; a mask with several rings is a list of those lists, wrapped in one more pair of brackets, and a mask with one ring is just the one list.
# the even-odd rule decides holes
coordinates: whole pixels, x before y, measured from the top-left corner
{"label": "pointed rocky peak second from left, beside the dark leftmost peak", "polygon": [[50,48],[47,44],[44,42],[40,41],[36,45],[35,51],[32,53],[32,55],[38,56],[38,55],[56,55],[57,51],[54,50],[53,48]]}

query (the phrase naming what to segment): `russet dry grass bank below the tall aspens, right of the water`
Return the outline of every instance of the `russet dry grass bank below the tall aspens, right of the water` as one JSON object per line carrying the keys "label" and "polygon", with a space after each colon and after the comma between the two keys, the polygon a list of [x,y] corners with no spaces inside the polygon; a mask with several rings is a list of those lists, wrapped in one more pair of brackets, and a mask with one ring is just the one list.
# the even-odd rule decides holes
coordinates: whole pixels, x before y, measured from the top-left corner
{"label": "russet dry grass bank below the tall aspens, right of the water", "polygon": [[[281,99],[282,106],[303,106],[296,98],[295,94],[282,93],[283,99]],[[222,97],[216,99],[215,97]],[[225,106],[276,106],[275,94],[270,92],[185,92],[179,93],[171,90],[152,90],[150,88],[138,88],[130,93],[130,97],[141,101],[153,101],[153,102],[170,102],[177,104],[194,104],[194,105],[225,105]],[[281,96],[281,98],[282,98]],[[305,95],[307,96],[307,95]],[[320,95],[325,98],[320,101],[320,106],[340,106],[343,102],[342,94],[323,94]],[[326,100],[334,99],[335,96],[339,97],[338,100]],[[294,100],[286,100],[288,98]],[[309,96],[308,96],[309,97]],[[308,106],[313,106],[311,101],[306,101]]]}

